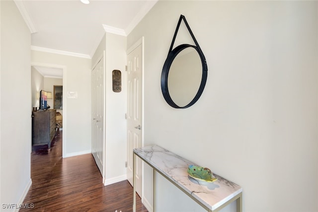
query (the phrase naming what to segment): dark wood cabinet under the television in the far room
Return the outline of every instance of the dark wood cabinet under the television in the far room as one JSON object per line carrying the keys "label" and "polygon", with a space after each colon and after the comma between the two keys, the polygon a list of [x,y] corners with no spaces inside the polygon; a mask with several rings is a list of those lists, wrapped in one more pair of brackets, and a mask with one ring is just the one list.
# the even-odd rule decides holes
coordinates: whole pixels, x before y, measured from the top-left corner
{"label": "dark wood cabinet under the television in the far room", "polygon": [[56,110],[35,111],[32,115],[32,146],[47,144],[50,149],[56,132]]}

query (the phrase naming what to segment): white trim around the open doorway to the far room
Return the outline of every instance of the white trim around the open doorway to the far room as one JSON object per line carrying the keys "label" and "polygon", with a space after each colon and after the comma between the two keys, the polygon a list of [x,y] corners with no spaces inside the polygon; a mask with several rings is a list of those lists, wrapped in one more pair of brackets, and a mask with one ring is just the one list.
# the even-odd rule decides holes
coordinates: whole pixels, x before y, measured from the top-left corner
{"label": "white trim around the open doorway to the far room", "polygon": [[[66,94],[66,71],[67,68],[66,66],[61,66],[61,65],[56,65],[56,64],[46,64],[46,63],[36,63],[36,62],[31,62],[31,67],[44,67],[44,68],[55,68],[55,69],[62,69],[63,70],[63,93]],[[65,158],[66,157],[66,134],[67,134],[67,120],[66,120],[66,110],[67,110],[67,98],[66,95],[63,95],[63,112],[62,112],[62,116],[63,116],[63,120],[62,120],[62,126],[63,126],[63,134],[62,134],[62,157]]]}

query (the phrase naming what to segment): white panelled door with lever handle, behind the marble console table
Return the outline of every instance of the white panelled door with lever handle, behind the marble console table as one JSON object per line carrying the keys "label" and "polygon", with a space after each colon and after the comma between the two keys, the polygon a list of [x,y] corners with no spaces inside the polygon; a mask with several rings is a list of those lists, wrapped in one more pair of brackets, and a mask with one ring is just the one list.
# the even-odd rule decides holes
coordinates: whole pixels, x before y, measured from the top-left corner
{"label": "white panelled door with lever handle, behind the marble console table", "polygon": [[[143,39],[128,51],[127,179],[133,185],[133,149],[142,147]],[[142,197],[142,161],[136,160],[136,191]]]}

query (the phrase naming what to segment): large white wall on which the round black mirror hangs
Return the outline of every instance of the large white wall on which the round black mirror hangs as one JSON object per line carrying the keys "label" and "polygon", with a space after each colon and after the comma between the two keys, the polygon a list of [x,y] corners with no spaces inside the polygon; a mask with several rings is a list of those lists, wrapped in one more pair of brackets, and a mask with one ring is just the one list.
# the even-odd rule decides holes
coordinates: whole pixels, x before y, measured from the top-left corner
{"label": "large white wall on which the round black mirror hangs", "polygon": [[[145,37],[145,145],[156,143],[242,186],[244,212],[317,212],[317,4],[159,1],[127,38],[129,47]],[[160,89],[180,14],[209,69],[201,98],[183,110],[170,107]],[[146,168],[150,204],[151,182]],[[158,211],[200,211],[166,180],[159,178],[158,187]],[[234,210],[232,204],[222,211]]]}

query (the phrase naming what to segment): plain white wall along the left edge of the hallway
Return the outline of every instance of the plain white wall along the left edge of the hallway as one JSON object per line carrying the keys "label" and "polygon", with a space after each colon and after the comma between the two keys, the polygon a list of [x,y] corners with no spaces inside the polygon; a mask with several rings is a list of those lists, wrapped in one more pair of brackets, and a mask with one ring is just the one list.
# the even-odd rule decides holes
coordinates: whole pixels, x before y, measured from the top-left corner
{"label": "plain white wall along the left edge of the hallway", "polygon": [[29,187],[31,35],[13,1],[0,1],[0,203],[21,204]]}

